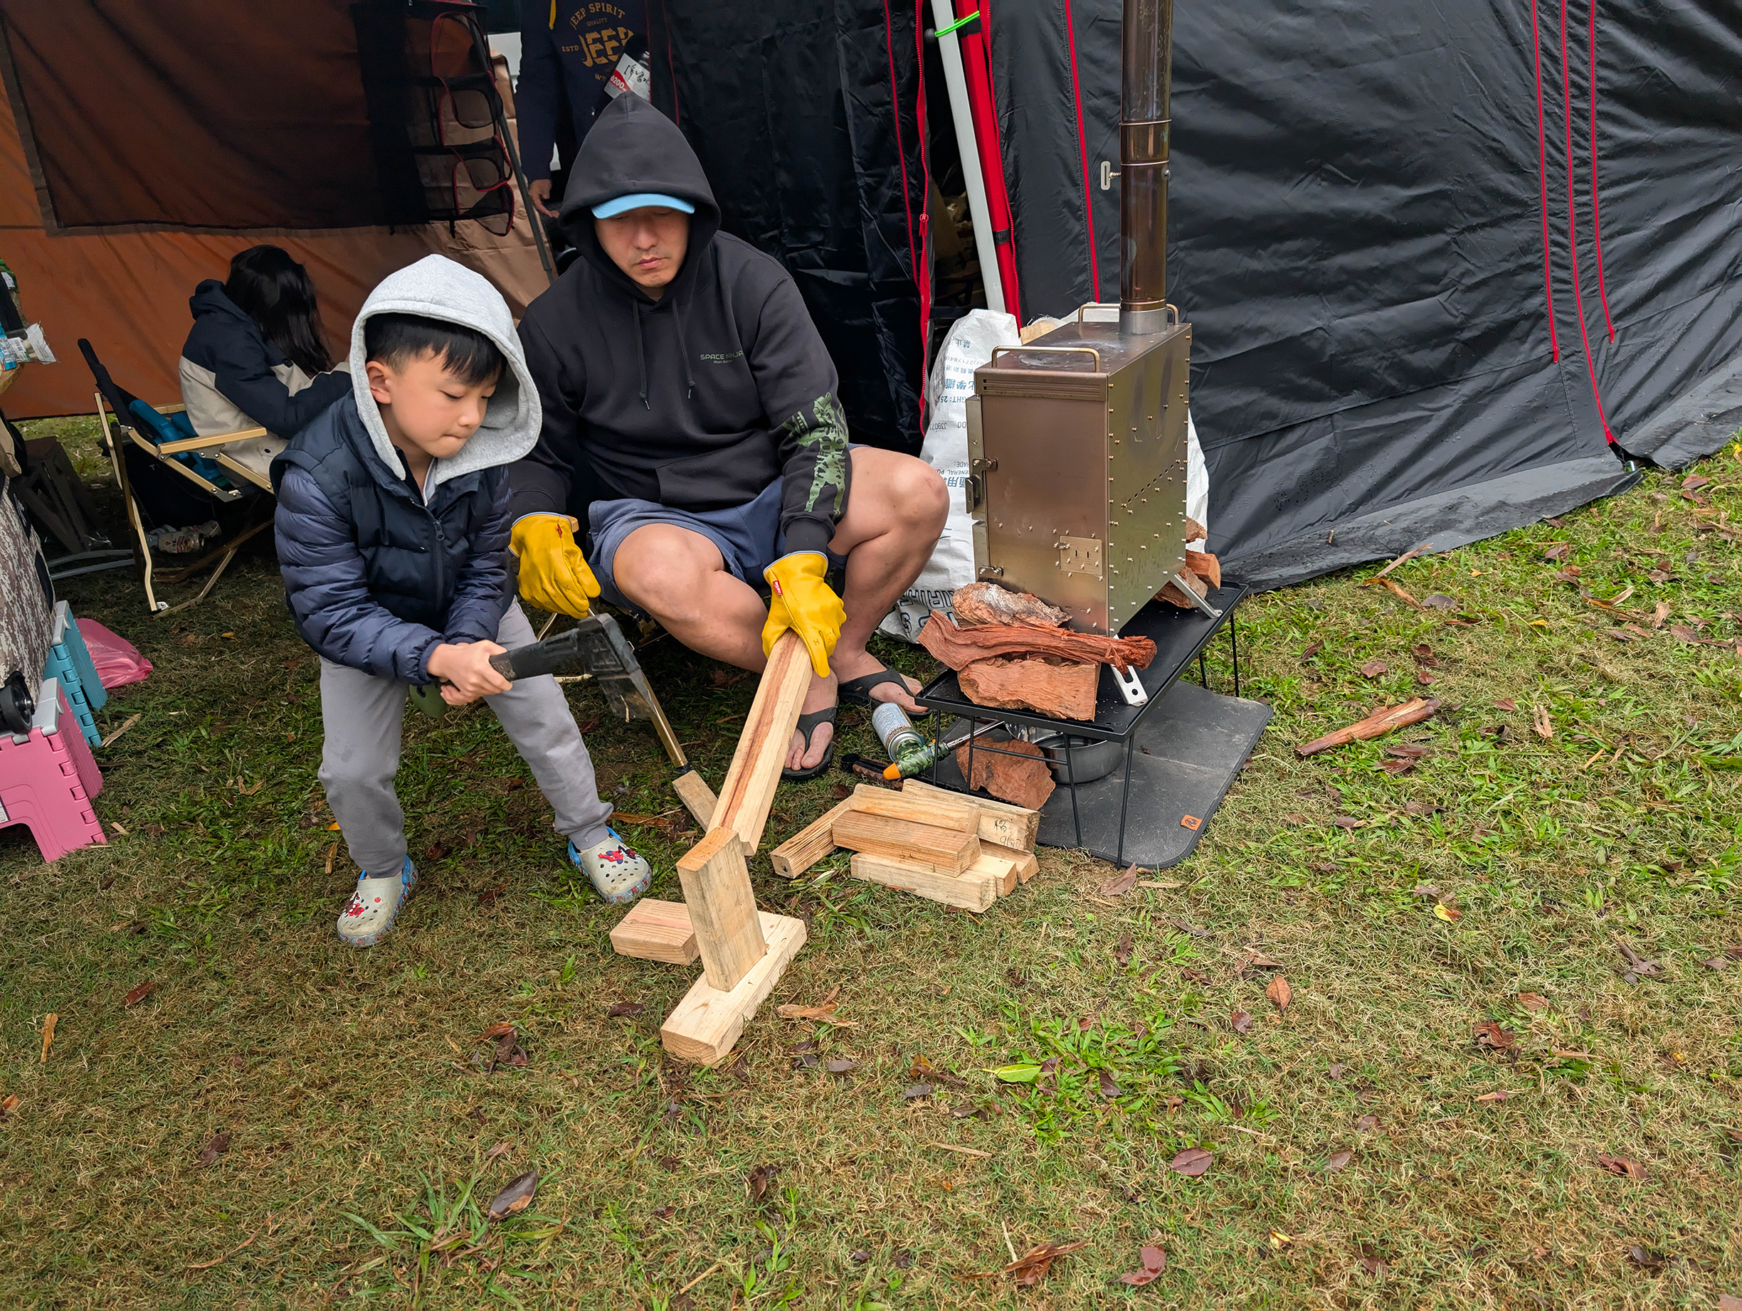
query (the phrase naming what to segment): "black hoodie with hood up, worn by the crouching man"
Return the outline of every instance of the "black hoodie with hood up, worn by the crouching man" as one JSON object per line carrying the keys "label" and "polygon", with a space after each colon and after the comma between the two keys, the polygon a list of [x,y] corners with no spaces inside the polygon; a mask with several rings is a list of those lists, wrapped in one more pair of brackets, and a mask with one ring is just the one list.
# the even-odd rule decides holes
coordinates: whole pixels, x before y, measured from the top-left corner
{"label": "black hoodie with hood up, worn by the crouching man", "polygon": [[[592,230],[592,205],[639,192],[695,205],[683,268],[660,299]],[[509,470],[514,514],[585,522],[587,500],[625,496],[719,510],[784,475],[786,548],[822,550],[847,510],[834,364],[779,261],[719,232],[683,132],[639,96],[618,96],[580,148],[561,218],[584,258],[521,320],[544,432]]]}

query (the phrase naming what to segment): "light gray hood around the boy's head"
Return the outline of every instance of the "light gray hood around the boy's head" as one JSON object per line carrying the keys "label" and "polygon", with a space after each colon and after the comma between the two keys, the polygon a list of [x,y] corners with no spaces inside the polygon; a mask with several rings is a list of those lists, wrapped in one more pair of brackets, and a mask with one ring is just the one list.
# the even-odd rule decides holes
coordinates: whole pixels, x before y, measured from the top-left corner
{"label": "light gray hood around the boy's head", "polygon": [[362,427],[369,432],[369,440],[375,442],[375,453],[388,468],[399,470],[402,465],[387,437],[381,411],[376,409],[375,397],[369,395],[369,371],[364,367],[368,352],[362,345],[364,326],[378,313],[416,313],[470,327],[495,341],[496,350],[509,362],[509,371],[496,383],[496,393],[490,397],[484,421],[472,434],[472,440],[460,447],[460,454],[430,465],[423,482],[425,501],[448,479],[514,463],[537,446],[538,428],[544,421],[538,409],[538,388],[526,371],[526,353],[514,331],[509,303],[483,273],[474,273],[444,256],[430,254],[409,268],[401,268],[381,279],[380,286],[369,292],[369,299],[362,303],[357,322],[350,327],[352,395],[357,397],[357,413],[362,416]]}

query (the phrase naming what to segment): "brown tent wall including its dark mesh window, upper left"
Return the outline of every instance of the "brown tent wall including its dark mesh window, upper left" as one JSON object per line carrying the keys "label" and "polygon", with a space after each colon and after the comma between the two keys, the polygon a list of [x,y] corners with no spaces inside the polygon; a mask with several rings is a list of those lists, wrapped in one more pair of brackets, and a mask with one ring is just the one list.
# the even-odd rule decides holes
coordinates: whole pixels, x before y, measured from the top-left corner
{"label": "brown tent wall including its dark mesh window, upper left", "polygon": [[[56,24],[66,16],[77,14],[80,23],[94,21],[98,7],[89,0],[64,3],[19,3],[3,0],[0,12],[7,21],[7,33],[12,40],[14,64],[23,59],[21,14],[52,14]],[[118,3],[101,5],[105,14],[120,10]],[[329,104],[319,103],[321,89],[348,70],[352,85],[357,85],[355,38],[350,37],[350,17],[347,7],[331,0],[296,7],[277,7],[261,12],[254,5],[237,5],[230,0],[165,0],[157,5],[125,5],[129,14],[125,23],[115,17],[103,19],[118,33],[139,33],[141,40],[129,45],[127,40],[108,40],[101,47],[101,59],[92,63],[61,63],[57,77],[68,84],[61,101],[66,106],[91,104],[89,91],[80,87],[108,87],[105,94],[115,96],[115,104],[127,104],[139,113],[139,127],[132,145],[115,139],[99,139],[89,122],[61,124],[59,136],[47,134],[44,110],[31,101],[33,129],[38,143],[54,136],[57,141],[78,141],[80,150],[89,148],[87,167],[80,174],[68,197],[87,197],[101,192],[117,176],[136,176],[145,172],[143,183],[152,183],[152,158],[141,155],[139,139],[159,139],[164,157],[157,178],[167,186],[171,181],[183,188],[176,195],[183,221],[188,214],[214,216],[214,211],[200,211],[199,205],[216,205],[226,198],[235,204],[235,214],[260,216],[265,205],[249,207],[251,195],[267,197],[273,204],[284,202],[282,183],[272,172],[275,158],[286,158],[275,151],[286,148],[279,143],[261,143],[261,148],[247,146],[237,138],[230,124],[213,124],[200,115],[221,113],[225,104],[235,104],[246,97],[265,94],[261,101],[251,99],[263,115],[277,108],[294,110],[296,132],[303,125],[314,124],[312,136],[303,139],[298,150],[336,150],[336,143],[348,136],[347,151],[350,164],[329,164],[324,158],[296,155],[300,167],[308,167],[327,190],[310,198],[307,212],[317,212],[326,205],[333,212],[334,197],[341,185],[362,185],[359,179],[368,172],[368,185],[373,188],[373,157],[366,141],[368,124],[361,108],[361,91],[352,94],[355,104],[343,97]],[[91,10],[91,12],[87,12]],[[258,33],[260,40],[270,37],[275,47],[253,45],[246,54],[251,68],[270,66],[275,70],[275,84],[263,91],[261,78],[244,68],[240,57],[226,59],[221,49],[206,49],[199,44],[192,56],[171,49],[176,44],[164,44],[164,38],[152,37],[153,24],[172,30],[178,35],[199,30],[202,24],[195,10],[207,10],[213,16],[204,26],[213,31],[232,31],[233,21],[225,16],[247,14],[247,26]],[[336,17],[334,17],[336,16]],[[343,23],[343,30],[336,26]],[[44,17],[47,23],[47,17]],[[40,24],[26,23],[24,30],[38,33]],[[84,30],[80,30],[84,35]],[[350,54],[334,50],[333,42],[343,37],[350,44]],[[92,37],[92,40],[96,40]],[[31,47],[42,57],[44,47]],[[125,56],[131,49],[139,68],[129,71]],[[61,50],[61,59],[68,50]],[[261,61],[267,61],[261,64]],[[242,70],[242,71],[237,71]],[[507,75],[496,61],[498,87],[503,99],[509,99]],[[179,82],[179,78],[190,78]],[[223,82],[221,91],[213,84]],[[33,85],[33,84],[31,84]],[[157,85],[162,94],[155,96],[155,110],[146,117],[139,96],[127,97],[117,89],[138,89]],[[284,91],[289,87],[293,91]],[[179,97],[171,92],[179,92]],[[510,101],[512,104],[512,101]],[[113,108],[113,104],[110,106]],[[324,124],[322,115],[333,113],[336,122]],[[105,110],[105,113],[108,113]],[[348,115],[348,117],[347,117]],[[94,122],[94,120],[92,120]],[[207,124],[209,127],[202,127]],[[106,129],[105,129],[106,131]],[[324,136],[322,136],[324,132]],[[78,136],[84,134],[84,136]],[[232,138],[226,141],[226,138]],[[272,145],[270,150],[265,146]],[[54,153],[54,151],[49,151]],[[204,178],[200,190],[192,193],[185,188],[188,162]],[[361,164],[359,164],[361,160]],[[124,174],[111,169],[124,167]],[[331,186],[329,186],[331,185]],[[273,188],[279,188],[273,192]],[[338,188],[338,190],[333,190]],[[167,192],[164,193],[167,195]],[[56,185],[56,200],[63,190]],[[373,204],[373,202],[368,202]],[[138,211],[145,212],[145,211]],[[68,221],[70,214],[61,214]],[[91,219],[91,212],[82,211],[82,226]],[[207,225],[233,226],[233,225]],[[89,226],[87,226],[89,233]],[[125,230],[101,235],[80,232],[47,232],[44,212],[38,204],[37,179],[26,158],[24,143],[12,117],[12,106],[0,101],[0,258],[12,268],[17,284],[21,308],[26,320],[40,320],[49,345],[59,355],[59,364],[24,366],[17,383],[3,399],[5,413],[10,418],[31,418],[42,414],[89,413],[92,402],[92,381],[78,359],[77,340],[91,338],[98,357],[110,367],[127,390],[146,400],[172,402],[179,399],[176,381],[176,360],[181,355],[181,343],[186,340],[192,319],[188,317],[188,296],[200,279],[223,279],[230,256],[260,242],[273,242],[287,249],[296,259],[308,266],[310,277],[321,291],[321,312],[333,338],[334,348],[343,348],[350,336],[350,320],[355,317],[369,289],[395,268],[402,268],[425,254],[439,252],[484,273],[507,296],[516,315],[526,303],[545,289],[547,280],[533,245],[533,237],[524,216],[517,216],[512,230],[505,237],[495,237],[479,223],[462,221],[449,235],[446,223],[422,225],[415,228],[388,230],[381,226],[343,226],[333,230],[293,230],[286,226],[267,226],[232,232],[164,232],[164,230]]]}

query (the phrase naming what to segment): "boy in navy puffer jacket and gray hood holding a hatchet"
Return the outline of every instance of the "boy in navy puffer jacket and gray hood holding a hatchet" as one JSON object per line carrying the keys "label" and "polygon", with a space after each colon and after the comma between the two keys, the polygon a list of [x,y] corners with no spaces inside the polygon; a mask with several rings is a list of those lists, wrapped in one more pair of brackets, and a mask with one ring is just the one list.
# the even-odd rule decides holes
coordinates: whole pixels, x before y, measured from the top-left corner
{"label": "boy in navy puffer jacket and gray hood holding a hatchet", "polygon": [[357,862],[338,935],[373,947],[411,895],[394,796],[406,684],[490,698],[608,902],[652,869],[606,825],[592,761],[550,676],[509,682],[490,656],[533,641],[507,590],[503,467],[538,440],[538,392],[509,306],[481,275],[427,256],[369,292],[350,333],[352,393],[272,463],[296,632],[321,655],[321,785]]}

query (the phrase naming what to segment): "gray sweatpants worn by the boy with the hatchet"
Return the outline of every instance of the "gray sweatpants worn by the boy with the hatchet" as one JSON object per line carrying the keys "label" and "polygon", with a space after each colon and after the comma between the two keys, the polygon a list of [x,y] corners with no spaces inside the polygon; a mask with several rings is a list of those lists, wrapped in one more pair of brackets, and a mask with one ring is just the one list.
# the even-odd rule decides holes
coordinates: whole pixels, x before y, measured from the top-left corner
{"label": "gray sweatpants worn by the boy with the hatchet", "polygon": [[[512,651],[533,637],[519,602],[510,604],[496,641]],[[549,674],[517,679],[509,691],[484,700],[556,810],[556,830],[582,851],[603,843],[611,806],[599,799],[592,757],[557,681]],[[394,794],[404,716],[404,682],[321,658],[321,721],[326,728],[321,785],[350,858],[378,877],[397,874],[406,855],[406,811]]]}

